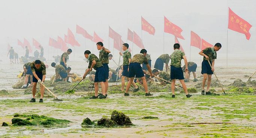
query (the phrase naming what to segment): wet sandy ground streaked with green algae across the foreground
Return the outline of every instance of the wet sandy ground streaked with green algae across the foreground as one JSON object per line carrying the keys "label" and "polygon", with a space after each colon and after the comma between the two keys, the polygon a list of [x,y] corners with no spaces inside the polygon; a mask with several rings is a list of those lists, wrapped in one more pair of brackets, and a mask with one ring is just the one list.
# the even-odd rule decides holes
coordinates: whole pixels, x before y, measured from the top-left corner
{"label": "wet sandy ground streaked with green algae across the foreground", "polygon": [[[218,85],[212,87],[215,95],[201,95],[201,82],[186,83],[190,88],[191,98],[186,98],[182,89],[176,89],[176,98],[172,98],[170,85],[155,86],[149,84],[153,96],[145,97],[140,86],[139,92],[130,92],[125,97],[120,87],[111,86],[107,99],[89,99],[82,83],[70,98],[62,96],[76,84],[67,83],[67,88],[55,89],[56,84],[49,88],[62,98],[62,103],[53,102],[53,98],[44,98],[44,103],[30,103],[31,94],[24,95],[24,90],[8,90],[0,93],[0,137],[19,138],[254,138],[256,137],[256,93],[253,77],[251,81],[239,74],[241,69],[215,68],[216,74],[223,84],[227,95]],[[219,72],[218,72],[219,71]],[[235,75],[234,75],[235,74]],[[200,79],[200,74],[197,74]],[[230,79],[235,78],[235,79]],[[237,80],[237,79],[241,79]],[[215,77],[213,77],[213,81]],[[235,82],[235,83],[234,83]],[[218,82],[217,82],[218,83]],[[177,81],[177,84],[180,84]],[[132,91],[131,89],[130,91]],[[192,93],[193,92],[193,93]],[[46,92],[47,93],[47,92]],[[81,97],[83,95],[83,97]],[[133,125],[117,125],[112,117],[113,111],[127,115]],[[20,114],[20,115],[17,115]],[[14,117],[15,116],[15,117]],[[41,118],[33,119],[35,117]],[[47,118],[45,118],[47,117]],[[50,117],[50,119],[49,119]],[[13,118],[30,121],[31,125],[18,126],[12,124]],[[108,121],[102,126],[82,125],[84,122],[94,123]],[[48,119],[48,120],[47,120]],[[46,121],[47,120],[47,121]],[[62,121],[56,121],[62,120]],[[64,120],[64,121],[63,121]],[[8,126],[2,126],[6,122]],[[50,124],[50,125],[44,125]],[[54,122],[59,122],[54,124]],[[84,123],[83,123],[84,124]],[[110,125],[111,124],[111,125]],[[114,125],[112,125],[114,124]],[[111,127],[108,127],[111,126]]]}

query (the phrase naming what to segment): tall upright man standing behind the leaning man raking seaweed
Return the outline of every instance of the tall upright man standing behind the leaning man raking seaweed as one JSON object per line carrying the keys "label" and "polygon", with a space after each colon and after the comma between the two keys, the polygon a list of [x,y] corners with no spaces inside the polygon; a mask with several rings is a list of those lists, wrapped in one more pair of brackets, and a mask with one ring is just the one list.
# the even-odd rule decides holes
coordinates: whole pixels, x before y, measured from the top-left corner
{"label": "tall upright man standing behind the leaning man raking seaweed", "polygon": [[[107,90],[108,90],[108,72],[109,72],[109,68],[108,68],[108,63],[109,63],[108,54],[111,51],[109,51],[107,48],[105,48],[103,46],[102,42],[98,42],[98,43],[96,43],[96,45],[97,45],[97,49],[99,50],[99,61],[101,62],[101,64],[103,65],[103,67],[105,69],[105,79],[106,79],[106,81],[104,82],[104,84],[105,84],[105,94],[107,94]],[[102,95],[102,93],[100,93],[99,95]]]}

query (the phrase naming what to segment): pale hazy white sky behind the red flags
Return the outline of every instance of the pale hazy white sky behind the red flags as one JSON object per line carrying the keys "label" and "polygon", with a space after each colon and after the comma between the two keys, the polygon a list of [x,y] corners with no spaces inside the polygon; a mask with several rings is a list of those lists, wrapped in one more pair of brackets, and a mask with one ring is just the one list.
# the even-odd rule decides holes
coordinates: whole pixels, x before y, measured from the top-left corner
{"label": "pale hazy white sky behind the red flags", "polygon": [[[163,45],[165,53],[171,54],[173,49],[174,36],[163,33],[164,16],[166,16],[183,29],[181,34],[185,40],[179,39],[179,42],[188,56],[192,30],[212,45],[220,42],[223,48],[218,55],[225,57],[228,7],[253,26],[250,29],[250,40],[245,39],[244,34],[228,30],[230,55],[237,56],[241,52],[241,47],[243,51],[240,54],[247,53],[244,49],[255,53],[255,0],[1,0],[0,45],[6,49],[9,42],[18,49],[17,39],[23,42],[25,37],[32,45],[32,38],[35,38],[45,50],[48,50],[49,37],[55,39],[57,36],[63,37],[67,33],[67,28],[75,34],[78,24],[91,35],[95,31],[104,39],[104,45],[108,48],[109,43],[110,50],[113,51],[113,40],[108,41],[108,26],[110,26],[125,42],[127,28],[136,31],[139,36],[142,35],[143,43],[149,53],[151,55],[156,53],[154,56],[158,57],[163,54]],[[154,36],[141,31],[141,16],[155,27]],[[83,53],[85,42],[86,48],[92,47],[89,39],[85,40],[80,34],[77,34],[76,38],[81,47],[76,48],[74,52]],[[132,42],[128,41],[128,43],[132,45]],[[96,47],[94,51],[95,49]],[[134,45],[134,52],[139,51],[140,49]],[[191,57],[198,57],[198,52],[199,49],[191,47]],[[117,50],[113,53],[117,54]],[[255,57],[255,54],[251,56]]]}

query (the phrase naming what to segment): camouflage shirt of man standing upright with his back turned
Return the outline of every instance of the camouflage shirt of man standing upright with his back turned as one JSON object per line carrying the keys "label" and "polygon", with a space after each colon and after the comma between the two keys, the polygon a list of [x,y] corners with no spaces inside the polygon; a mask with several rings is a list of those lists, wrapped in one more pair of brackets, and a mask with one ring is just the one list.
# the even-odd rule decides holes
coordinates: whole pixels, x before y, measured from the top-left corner
{"label": "camouflage shirt of man standing upright with his back turned", "polygon": [[180,51],[179,49],[176,49],[171,55],[171,65],[177,68],[181,67],[181,60],[183,59],[184,55],[184,52]]}

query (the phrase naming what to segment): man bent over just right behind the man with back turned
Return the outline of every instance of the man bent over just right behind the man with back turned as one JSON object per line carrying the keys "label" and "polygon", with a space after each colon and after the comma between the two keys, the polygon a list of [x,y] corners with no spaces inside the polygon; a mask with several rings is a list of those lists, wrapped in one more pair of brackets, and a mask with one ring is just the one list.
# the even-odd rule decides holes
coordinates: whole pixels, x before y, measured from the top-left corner
{"label": "man bent over just right behind the man with back turned", "polygon": [[[184,66],[182,67],[182,71],[183,71],[183,72],[185,71],[185,68],[186,68],[186,66],[184,65]],[[197,78],[196,78],[196,68],[197,68],[196,63],[194,63],[194,62],[188,62],[188,71],[185,72],[185,80],[184,80],[185,82],[189,82],[189,79],[190,79],[190,72],[192,72],[192,73],[193,73],[193,76],[194,76],[193,82],[198,81]]]}

